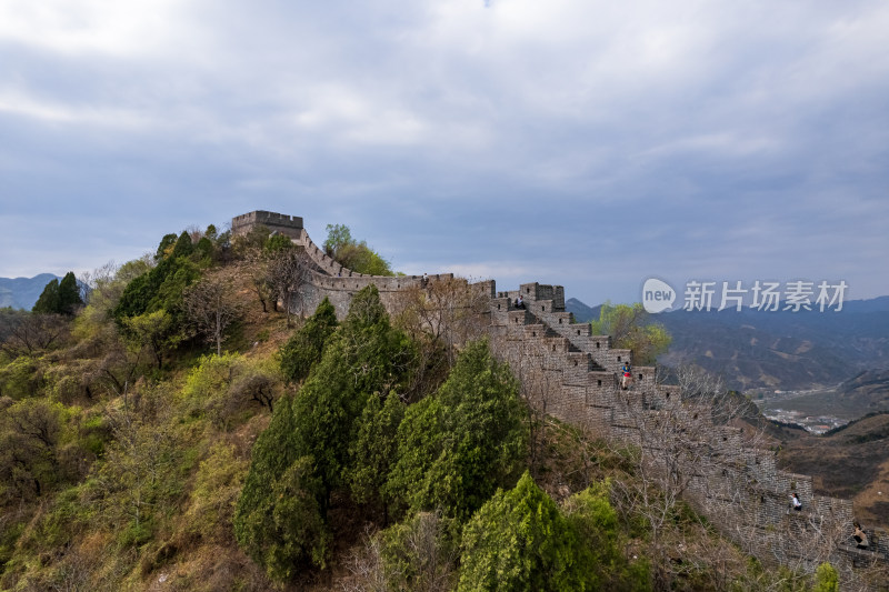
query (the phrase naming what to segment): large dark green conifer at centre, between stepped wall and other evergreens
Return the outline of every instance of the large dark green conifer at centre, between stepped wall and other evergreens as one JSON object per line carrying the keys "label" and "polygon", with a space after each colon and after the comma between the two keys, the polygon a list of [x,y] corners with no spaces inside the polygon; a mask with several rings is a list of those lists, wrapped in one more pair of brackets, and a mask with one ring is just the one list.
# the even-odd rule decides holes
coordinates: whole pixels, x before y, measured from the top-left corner
{"label": "large dark green conifer at centre, between stepped wall and other evergreens", "polygon": [[387,489],[401,508],[465,521],[516,482],[527,440],[516,379],[487,340],[472,342],[439,391],[408,408]]}

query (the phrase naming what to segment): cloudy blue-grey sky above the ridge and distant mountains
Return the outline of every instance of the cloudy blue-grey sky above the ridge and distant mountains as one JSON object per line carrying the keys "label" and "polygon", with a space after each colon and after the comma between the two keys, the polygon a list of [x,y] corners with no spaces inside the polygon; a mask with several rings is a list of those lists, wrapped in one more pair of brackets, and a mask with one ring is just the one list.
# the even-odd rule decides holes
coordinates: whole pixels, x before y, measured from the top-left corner
{"label": "cloudy blue-grey sky above the ridge and distant mountains", "polygon": [[889,3],[3,0],[0,277],[252,210],[409,273],[889,294]]}

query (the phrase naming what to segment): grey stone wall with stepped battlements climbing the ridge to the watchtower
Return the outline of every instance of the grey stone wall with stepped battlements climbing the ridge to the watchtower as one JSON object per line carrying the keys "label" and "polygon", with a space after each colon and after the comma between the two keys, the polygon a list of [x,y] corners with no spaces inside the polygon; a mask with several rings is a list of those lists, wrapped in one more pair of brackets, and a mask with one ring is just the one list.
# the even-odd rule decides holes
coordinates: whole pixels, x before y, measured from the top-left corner
{"label": "grey stone wall with stepped battlements climbing the ridge to the watchtower", "polygon": [[[392,310],[404,289],[453,279],[452,274],[354,273],[319,249],[298,217],[253,211],[233,218],[232,232],[244,233],[256,224],[304,249],[311,264],[300,299],[307,311],[328,298],[342,318],[351,297],[370,284]],[[857,549],[850,538],[852,502],[819,495],[811,476],[778,469],[773,451],[737,423],[715,420],[712,404],[659,383],[653,367],[635,367],[632,388],[622,390],[619,371],[625,362],[632,362],[632,352],[612,348],[608,335],[593,335],[588,323],[575,322],[565,311],[562,287],[525,283],[498,292],[489,280],[467,288],[487,301],[492,351],[510,363],[525,390],[541,393],[547,413],[589,428],[603,439],[651,451],[649,458],[656,463],[663,459],[656,468],[662,473],[681,469],[687,478],[683,498],[745,551],[763,562],[807,570],[828,560],[840,570],[889,564],[889,533],[866,529],[870,548]],[[515,305],[519,294],[523,309]],[[668,429],[682,434],[681,450],[667,450],[669,439],[663,434]],[[685,464],[669,466],[677,458]],[[802,501],[801,511],[789,509],[790,492]]]}

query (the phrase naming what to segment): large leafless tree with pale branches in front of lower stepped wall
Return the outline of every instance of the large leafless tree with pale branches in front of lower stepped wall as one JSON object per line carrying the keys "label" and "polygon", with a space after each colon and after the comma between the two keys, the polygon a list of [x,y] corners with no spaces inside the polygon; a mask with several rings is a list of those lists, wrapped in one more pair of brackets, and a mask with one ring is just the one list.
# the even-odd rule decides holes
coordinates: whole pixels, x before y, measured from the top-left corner
{"label": "large leafless tree with pale branches in front of lower stepped wall", "polygon": [[739,452],[757,450],[762,439],[761,431],[740,423],[748,402],[718,377],[695,367],[679,368],[673,375],[671,385],[615,391],[626,429],[615,445],[631,454],[636,466],[632,480],[615,483],[618,501],[649,525],[658,588],[669,588],[696,561],[718,563],[707,556],[708,549],[689,552],[693,539],[667,536],[676,533],[671,526],[680,515],[693,523],[689,531],[706,531],[703,522],[695,523],[698,514],[683,510],[689,502],[711,521],[740,525],[737,515],[746,511],[748,480]]}

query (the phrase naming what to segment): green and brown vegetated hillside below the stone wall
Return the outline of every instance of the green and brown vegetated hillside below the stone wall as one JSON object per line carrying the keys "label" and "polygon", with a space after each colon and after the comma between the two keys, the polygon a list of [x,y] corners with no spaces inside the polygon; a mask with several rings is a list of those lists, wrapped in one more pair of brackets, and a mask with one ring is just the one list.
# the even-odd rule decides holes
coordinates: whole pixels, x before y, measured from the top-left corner
{"label": "green and brown vegetated hillside below the stone wall", "polygon": [[471,311],[294,319],[306,264],[210,227],[0,312],[0,589],[836,590],[530,409]]}

